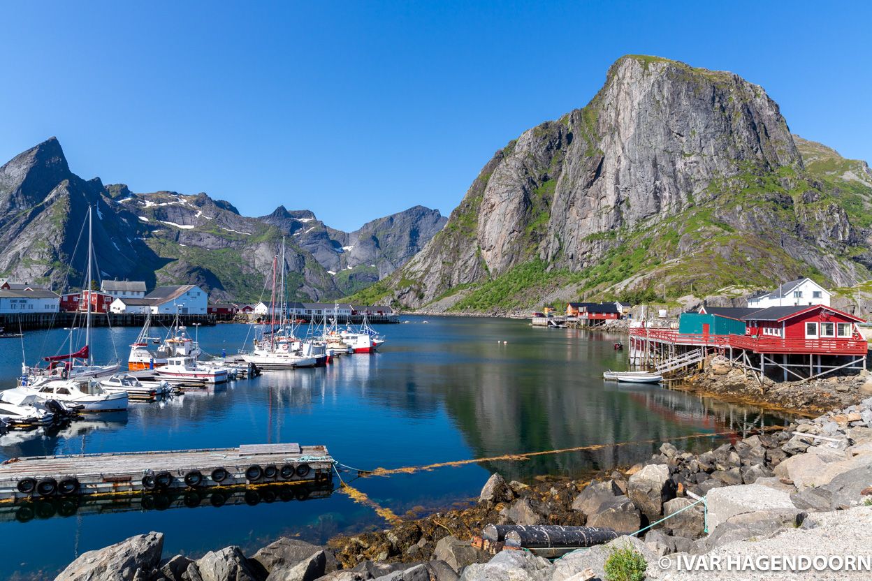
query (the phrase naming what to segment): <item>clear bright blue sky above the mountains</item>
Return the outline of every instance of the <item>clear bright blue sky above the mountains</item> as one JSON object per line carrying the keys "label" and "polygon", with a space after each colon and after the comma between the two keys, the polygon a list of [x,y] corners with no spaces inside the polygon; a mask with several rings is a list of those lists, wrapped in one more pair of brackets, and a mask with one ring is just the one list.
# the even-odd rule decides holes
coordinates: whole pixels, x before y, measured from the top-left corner
{"label": "clear bright blue sky above the mountains", "polygon": [[0,159],[309,208],[449,213],[493,153],[654,54],[761,84],[791,130],[872,160],[872,3],[4,3]]}

